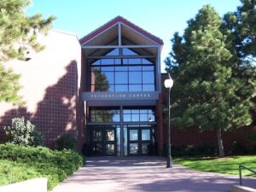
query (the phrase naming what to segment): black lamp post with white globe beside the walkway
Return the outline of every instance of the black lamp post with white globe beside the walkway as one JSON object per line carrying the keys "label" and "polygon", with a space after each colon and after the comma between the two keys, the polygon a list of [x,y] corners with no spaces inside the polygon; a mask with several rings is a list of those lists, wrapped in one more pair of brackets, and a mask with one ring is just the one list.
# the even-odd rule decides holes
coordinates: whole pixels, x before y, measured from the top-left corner
{"label": "black lamp post with white globe beside the walkway", "polygon": [[171,123],[170,123],[170,92],[172,89],[173,80],[171,75],[169,74],[169,79],[165,80],[165,87],[168,90],[168,148],[167,148],[167,161],[166,161],[166,168],[172,168],[172,154],[171,154]]}

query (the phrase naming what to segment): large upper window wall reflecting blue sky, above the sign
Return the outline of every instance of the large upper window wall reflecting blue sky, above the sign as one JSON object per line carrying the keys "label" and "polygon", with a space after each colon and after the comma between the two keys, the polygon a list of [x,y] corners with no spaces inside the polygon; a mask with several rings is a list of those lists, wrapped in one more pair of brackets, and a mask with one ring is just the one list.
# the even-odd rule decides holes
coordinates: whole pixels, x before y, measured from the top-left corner
{"label": "large upper window wall reflecting blue sky, above the sign", "polygon": [[87,89],[90,92],[155,90],[155,58],[150,55],[142,57],[131,49],[113,49],[101,58],[88,61]]}

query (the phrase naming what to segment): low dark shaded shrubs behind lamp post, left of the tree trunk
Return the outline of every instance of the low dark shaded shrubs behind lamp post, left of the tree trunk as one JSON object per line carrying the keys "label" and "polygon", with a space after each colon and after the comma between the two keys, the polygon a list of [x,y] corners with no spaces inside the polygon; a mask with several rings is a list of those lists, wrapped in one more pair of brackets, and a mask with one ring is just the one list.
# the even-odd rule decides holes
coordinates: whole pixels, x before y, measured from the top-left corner
{"label": "low dark shaded shrubs behind lamp post, left of the tree trunk", "polygon": [[[172,156],[213,156],[217,148],[209,144],[172,146]],[[164,145],[163,156],[167,156],[167,145]]]}

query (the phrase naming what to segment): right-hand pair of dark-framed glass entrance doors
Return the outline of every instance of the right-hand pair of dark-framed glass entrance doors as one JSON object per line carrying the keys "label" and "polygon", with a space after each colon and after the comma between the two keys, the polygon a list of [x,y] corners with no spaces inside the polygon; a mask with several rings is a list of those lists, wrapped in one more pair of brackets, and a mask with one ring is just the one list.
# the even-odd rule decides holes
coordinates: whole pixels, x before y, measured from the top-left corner
{"label": "right-hand pair of dark-framed glass entrance doors", "polygon": [[148,155],[152,151],[152,129],[132,127],[127,129],[128,155]]}

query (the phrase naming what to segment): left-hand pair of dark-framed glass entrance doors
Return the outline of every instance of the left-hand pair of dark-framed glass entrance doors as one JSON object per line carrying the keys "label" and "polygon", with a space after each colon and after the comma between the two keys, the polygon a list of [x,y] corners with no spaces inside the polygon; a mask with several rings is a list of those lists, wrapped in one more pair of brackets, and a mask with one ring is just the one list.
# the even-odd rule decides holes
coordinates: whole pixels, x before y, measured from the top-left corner
{"label": "left-hand pair of dark-framed glass entrance doors", "polygon": [[91,129],[91,154],[116,155],[116,129],[102,127]]}

